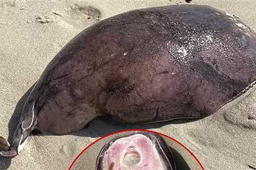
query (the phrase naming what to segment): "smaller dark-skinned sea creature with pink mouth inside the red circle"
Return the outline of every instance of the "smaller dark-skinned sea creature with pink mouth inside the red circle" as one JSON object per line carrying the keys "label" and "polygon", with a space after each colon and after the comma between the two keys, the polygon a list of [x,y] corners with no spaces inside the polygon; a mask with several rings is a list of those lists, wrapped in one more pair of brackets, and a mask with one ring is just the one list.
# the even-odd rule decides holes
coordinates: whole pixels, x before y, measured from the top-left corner
{"label": "smaller dark-skinned sea creature with pink mouth inside the red circle", "polygon": [[119,135],[100,151],[96,170],[175,170],[174,158],[161,135],[137,132]]}

